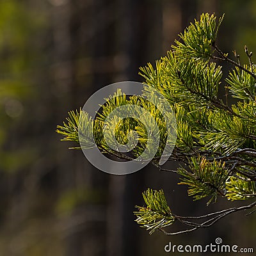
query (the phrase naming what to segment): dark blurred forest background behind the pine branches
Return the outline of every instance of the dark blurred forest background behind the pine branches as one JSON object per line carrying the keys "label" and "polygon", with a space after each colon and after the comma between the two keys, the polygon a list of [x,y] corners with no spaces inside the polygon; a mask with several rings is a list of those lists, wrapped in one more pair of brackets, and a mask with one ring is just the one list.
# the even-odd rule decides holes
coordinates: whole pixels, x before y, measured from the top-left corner
{"label": "dark blurred forest background behind the pine branches", "polygon": [[139,67],[164,56],[202,12],[225,13],[223,51],[236,49],[245,61],[246,44],[256,55],[253,0],[0,1],[0,255],[159,256],[169,241],[204,245],[216,237],[255,245],[256,216],[244,212],[192,234],[149,236],[132,214],[148,187],[163,188],[179,215],[241,202],[193,202],[176,175],[152,166],[126,176],[100,172],[55,132],[102,86],[143,81]]}

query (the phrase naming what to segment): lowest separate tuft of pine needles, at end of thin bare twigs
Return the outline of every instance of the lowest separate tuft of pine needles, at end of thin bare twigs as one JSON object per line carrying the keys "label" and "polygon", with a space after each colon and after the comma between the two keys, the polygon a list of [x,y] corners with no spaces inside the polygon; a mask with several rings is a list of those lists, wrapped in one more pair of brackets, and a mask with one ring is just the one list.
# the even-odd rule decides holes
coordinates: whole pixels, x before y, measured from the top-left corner
{"label": "lowest separate tuft of pine needles, at end of thin bare twigs", "polygon": [[136,222],[150,230],[149,234],[173,224],[175,216],[167,205],[163,190],[147,189],[143,193],[143,198],[147,207],[136,206],[139,211],[134,214],[137,216]]}

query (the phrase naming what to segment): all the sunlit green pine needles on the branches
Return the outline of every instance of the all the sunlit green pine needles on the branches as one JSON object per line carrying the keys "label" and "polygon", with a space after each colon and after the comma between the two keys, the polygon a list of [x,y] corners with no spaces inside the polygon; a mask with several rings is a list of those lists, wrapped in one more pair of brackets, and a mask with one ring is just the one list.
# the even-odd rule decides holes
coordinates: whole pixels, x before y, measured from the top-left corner
{"label": "all the sunlit green pine needles on the branches", "polygon": [[[103,129],[108,131],[106,136],[109,138],[113,138],[114,131],[115,138],[124,145],[132,136],[131,131],[136,131],[139,143],[131,153],[132,157],[137,157],[150,144],[150,136],[143,125],[151,122],[148,116],[122,121],[113,116],[109,127],[104,128],[103,125],[111,111],[119,106],[132,106],[129,109],[131,113],[135,111],[134,106],[148,111],[156,120],[161,134],[157,154],[152,160],[156,164],[168,134],[162,115],[163,106],[154,106],[150,100],[156,97],[152,88],[156,89],[168,100],[177,120],[177,140],[170,160],[182,163],[177,171],[181,176],[180,184],[188,185],[188,195],[195,200],[209,197],[207,204],[215,202],[218,195],[229,200],[255,198],[256,186],[256,65],[247,47],[244,49],[249,65],[241,65],[236,51],[234,61],[219,49],[216,37],[222,20],[223,16],[217,22],[214,15],[203,13],[179,35],[180,40],[175,41],[166,56],[156,61],[155,67],[148,63],[140,68],[140,75],[145,79],[146,99],[136,95],[126,97],[118,90],[107,99],[95,120],[86,113],[80,113],[84,116],[84,127],[87,131],[93,129],[97,147],[104,153],[115,155],[102,136]],[[220,61],[232,65],[228,77],[223,78]],[[223,83],[226,83],[225,102],[219,90]],[[78,113],[71,113],[68,123],[58,127],[65,140],[77,142],[77,127],[81,125],[78,119]],[[89,147],[92,138],[87,137],[85,134],[84,141]],[[150,145],[156,147],[154,143]],[[162,190],[148,189],[143,197],[147,207],[137,207],[139,211],[134,213],[136,221],[150,230],[150,234],[173,223],[176,217],[166,204]],[[219,217],[223,216],[225,214]],[[212,218],[212,223],[215,222]],[[189,221],[187,224],[191,225]],[[195,227],[199,226],[195,224]]]}

